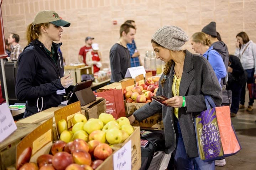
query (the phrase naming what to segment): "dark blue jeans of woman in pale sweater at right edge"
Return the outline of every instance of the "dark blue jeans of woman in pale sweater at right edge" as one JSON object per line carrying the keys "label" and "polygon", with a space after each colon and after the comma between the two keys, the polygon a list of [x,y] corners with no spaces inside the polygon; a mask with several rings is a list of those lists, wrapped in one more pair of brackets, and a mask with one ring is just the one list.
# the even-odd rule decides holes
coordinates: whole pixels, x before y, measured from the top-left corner
{"label": "dark blue jeans of woman in pale sweater at right edge", "polygon": [[[254,68],[248,69],[245,71],[247,73],[247,84],[254,83]],[[242,105],[245,104],[245,87],[246,87],[246,84],[244,84],[244,86],[242,87],[242,91],[241,91],[240,104],[242,104]],[[254,99],[251,99],[249,96],[249,105],[252,106],[253,103],[254,103]]]}

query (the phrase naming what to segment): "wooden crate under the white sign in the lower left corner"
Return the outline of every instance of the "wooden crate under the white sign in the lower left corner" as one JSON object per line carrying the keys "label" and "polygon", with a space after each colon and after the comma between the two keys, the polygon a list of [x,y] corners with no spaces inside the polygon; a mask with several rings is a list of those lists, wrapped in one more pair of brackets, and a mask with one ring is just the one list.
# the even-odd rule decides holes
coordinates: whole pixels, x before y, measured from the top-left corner
{"label": "wooden crate under the white sign in the lower left corner", "polygon": [[40,124],[16,123],[17,129],[0,143],[0,170],[15,164],[16,145]]}

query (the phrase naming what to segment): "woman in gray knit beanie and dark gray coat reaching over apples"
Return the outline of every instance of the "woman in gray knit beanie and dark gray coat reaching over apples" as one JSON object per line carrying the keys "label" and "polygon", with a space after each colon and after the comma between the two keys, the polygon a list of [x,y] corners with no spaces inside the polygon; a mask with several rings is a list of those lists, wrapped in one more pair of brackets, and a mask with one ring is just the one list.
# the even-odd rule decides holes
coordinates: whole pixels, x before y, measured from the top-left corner
{"label": "woman in gray knit beanie and dark gray coat reaching over apples", "polygon": [[156,96],[166,96],[168,106],[152,100],[130,117],[130,123],[142,121],[156,112],[162,112],[165,152],[172,153],[168,169],[214,170],[214,161],[199,158],[194,117],[206,109],[204,95],[210,96],[216,106],[221,104],[221,88],[209,62],[202,56],[182,50],[188,35],[179,27],[167,26],[152,36],[156,58],[166,63],[160,77]]}

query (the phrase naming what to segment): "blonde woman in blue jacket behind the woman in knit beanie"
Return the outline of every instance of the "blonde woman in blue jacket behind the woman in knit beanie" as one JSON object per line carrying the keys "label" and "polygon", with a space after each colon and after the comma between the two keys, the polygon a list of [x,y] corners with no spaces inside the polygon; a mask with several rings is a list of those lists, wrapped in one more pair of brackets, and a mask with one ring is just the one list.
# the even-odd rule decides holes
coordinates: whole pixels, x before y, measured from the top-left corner
{"label": "blonde woman in blue jacket behind the woman in knit beanie", "polygon": [[191,45],[196,53],[203,55],[209,61],[220,83],[227,74],[226,67],[219,52],[210,45],[207,35],[203,32],[194,33],[191,37]]}

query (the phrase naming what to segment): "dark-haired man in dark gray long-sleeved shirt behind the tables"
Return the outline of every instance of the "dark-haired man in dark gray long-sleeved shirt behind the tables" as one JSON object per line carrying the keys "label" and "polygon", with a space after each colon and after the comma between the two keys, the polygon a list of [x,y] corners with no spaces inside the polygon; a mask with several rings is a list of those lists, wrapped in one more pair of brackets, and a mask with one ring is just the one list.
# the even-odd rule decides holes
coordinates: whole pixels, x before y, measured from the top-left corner
{"label": "dark-haired man in dark gray long-sleeved shirt behind the tables", "polygon": [[132,43],[135,35],[135,27],[132,24],[124,23],[121,25],[120,38],[110,49],[110,82],[119,82],[124,79],[127,68],[131,67],[130,53],[126,44]]}

